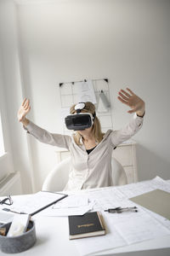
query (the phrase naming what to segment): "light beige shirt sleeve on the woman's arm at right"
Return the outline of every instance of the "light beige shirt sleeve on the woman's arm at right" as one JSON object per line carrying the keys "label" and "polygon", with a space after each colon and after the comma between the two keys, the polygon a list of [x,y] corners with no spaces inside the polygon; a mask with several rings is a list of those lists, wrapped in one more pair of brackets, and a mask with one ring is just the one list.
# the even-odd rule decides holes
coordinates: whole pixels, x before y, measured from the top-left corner
{"label": "light beige shirt sleeve on the woman's arm at right", "polygon": [[117,146],[127,141],[141,129],[142,125],[143,117],[139,117],[136,113],[134,113],[133,119],[131,119],[127,125],[120,130],[112,131],[111,143],[113,143],[114,146]]}

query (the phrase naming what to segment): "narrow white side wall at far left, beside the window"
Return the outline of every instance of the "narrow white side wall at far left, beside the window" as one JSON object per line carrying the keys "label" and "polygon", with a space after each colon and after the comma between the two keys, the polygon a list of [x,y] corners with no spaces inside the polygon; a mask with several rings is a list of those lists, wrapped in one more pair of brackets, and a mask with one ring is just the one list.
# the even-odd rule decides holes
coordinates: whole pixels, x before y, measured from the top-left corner
{"label": "narrow white side wall at far left, beside the window", "polygon": [[[0,52],[2,78],[0,81],[1,110],[5,151],[11,157],[8,172],[20,172],[23,192],[31,193],[31,159],[26,134],[17,121],[17,111],[23,97],[20,58],[18,51],[17,21],[14,2],[0,1]],[[0,172],[3,172],[3,165]]]}

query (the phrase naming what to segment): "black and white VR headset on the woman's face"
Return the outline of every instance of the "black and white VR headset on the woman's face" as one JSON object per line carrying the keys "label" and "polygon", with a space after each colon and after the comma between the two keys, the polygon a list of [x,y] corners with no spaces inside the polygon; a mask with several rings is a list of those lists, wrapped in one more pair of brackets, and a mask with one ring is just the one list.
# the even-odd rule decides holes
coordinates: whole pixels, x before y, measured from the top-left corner
{"label": "black and white VR headset on the woman's face", "polygon": [[65,117],[65,125],[68,130],[81,131],[94,124],[95,113],[81,113],[83,108],[85,108],[85,103],[80,102],[75,106],[77,113]]}

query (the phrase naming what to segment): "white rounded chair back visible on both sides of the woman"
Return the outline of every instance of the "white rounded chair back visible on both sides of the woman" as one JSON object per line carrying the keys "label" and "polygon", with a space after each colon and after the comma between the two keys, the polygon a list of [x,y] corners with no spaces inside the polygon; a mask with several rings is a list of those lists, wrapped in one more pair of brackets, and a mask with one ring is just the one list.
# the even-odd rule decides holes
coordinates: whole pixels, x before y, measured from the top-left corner
{"label": "white rounded chair back visible on both sides of the woman", "polygon": [[[127,176],[122,165],[115,159],[111,160],[112,178],[114,186],[127,184]],[[42,184],[42,190],[62,191],[65,188],[71,171],[71,157],[62,160],[48,173]]]}

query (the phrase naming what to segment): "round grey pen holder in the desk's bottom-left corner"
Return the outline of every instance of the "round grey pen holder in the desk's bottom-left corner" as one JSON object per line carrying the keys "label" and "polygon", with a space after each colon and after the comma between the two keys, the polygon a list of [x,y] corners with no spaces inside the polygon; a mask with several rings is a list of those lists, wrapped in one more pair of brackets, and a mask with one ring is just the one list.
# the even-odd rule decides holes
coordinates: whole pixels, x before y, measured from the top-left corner
{"label": "round grey pen holder in the desk's bottom-left corner", "polygon": [[[3,224],[1,228],[6,228],[6,234],[12,223]],[[21,253],[32,247],[36,242],[35,223],[30,221],[25,233],[20,236],[1,236],[0,248],[3,253]]]}

